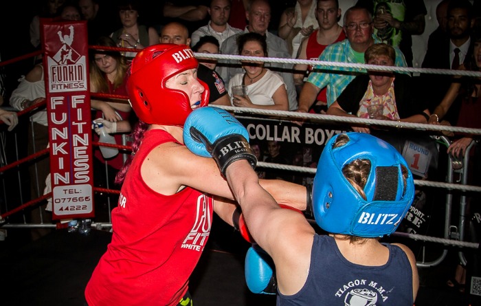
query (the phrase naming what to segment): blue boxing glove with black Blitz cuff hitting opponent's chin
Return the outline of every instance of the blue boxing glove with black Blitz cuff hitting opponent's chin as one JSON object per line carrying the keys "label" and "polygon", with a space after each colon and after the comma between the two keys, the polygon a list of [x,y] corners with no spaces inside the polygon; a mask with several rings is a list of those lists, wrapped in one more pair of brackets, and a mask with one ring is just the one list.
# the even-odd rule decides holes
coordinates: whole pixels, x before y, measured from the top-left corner
{"label": "blue boxing glove with black Blitz cuff hitting opponent's chin", "polygon": [[219,107],[194,109],[183,125],[183,143],[194,154],[214,157],[225,176],[227,166],[236,160],[247,160],[252,168],[256,155],[249,146],[245,127]]}

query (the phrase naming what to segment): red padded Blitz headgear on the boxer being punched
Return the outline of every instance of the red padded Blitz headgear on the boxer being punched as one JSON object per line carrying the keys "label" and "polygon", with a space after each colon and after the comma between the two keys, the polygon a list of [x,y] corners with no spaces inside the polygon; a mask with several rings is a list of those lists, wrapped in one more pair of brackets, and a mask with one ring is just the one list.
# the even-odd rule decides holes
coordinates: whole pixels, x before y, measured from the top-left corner
{"label": "red padded Blitz headgear on the boxer being punched", "polygon": [[[166,81],[180,72],[197,69],[199,63],[187,45],[151,45],[137,53],[128,70],[127,92],[139,120],[148,124],[183,126],[192,112],[187,94],[166,87]],[[209,103],[209,87],[199,80],[204,91],[201,105]]]}

